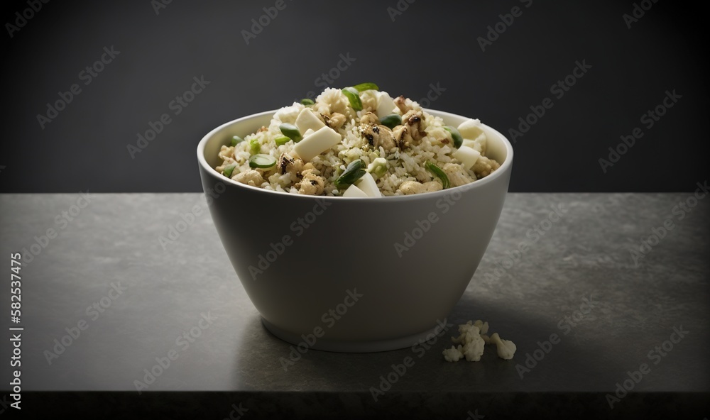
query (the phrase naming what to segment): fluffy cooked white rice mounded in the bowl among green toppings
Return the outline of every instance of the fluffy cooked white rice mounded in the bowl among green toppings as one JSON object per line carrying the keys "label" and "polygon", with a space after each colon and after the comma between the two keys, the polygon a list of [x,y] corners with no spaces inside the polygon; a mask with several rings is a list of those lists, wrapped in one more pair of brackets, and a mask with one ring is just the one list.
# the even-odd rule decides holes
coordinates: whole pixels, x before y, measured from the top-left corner
{"label": "fluffy cooked white rice mounded in the bowl among green toppings", "polygon": [[[423,118],[420,127],[423,128],[425,136],[419,141],[410,142],[408,147],[394,147],[390,150],[384,150],[382,146],[373,147],[361,134],[360,119],[367,112],[376,110],[378,92],[374,90],[364,91],[360,93],[360,97],[363,104],[361,111],[354,111],[350,106],[349,99],[343,94],[341,89],[325,89],[315,99],[315,104],[310,105],[310,108],[323,121],[328,121],[328,118],[324,118],[324,116],[333,116],[336,113],[342,114],[346,118],[345,123],[337,128],[337,133],[342,136],[342,141],[310,160],[310,163],[317,170],[317,172],[313,173],[323,179],[323,188],[320,195],[342,195],[344,189],[338,189],[334,181],[342,175],[350,162],[357,159],[361,159],[364,162],[364,167],[366,167],[376,157],[386,158],[387,172],[376,179],[378,188],[385,196],[412,194],[411,189],[405,189],[405,191],[400,189],[403,183],[408,181],[420,184],[432,181],[441,183],[442,181],[438,177],[426,170],[425,163],[427,161],[440,168],[444,168],[448,163],[456,165],[455,167],[448,165],[445,171],[449,175],[451,187],[474,182],[476,179],[484,177],[498,168],[498,162],[485,157],[486,138],[483,136],[483,138],[477,139],[481,158],[479,158],[479,162],[476,162],[476,165],[466,170],[459,160],[452,157],[452,153],[456,151],[456,148],[454,148],[452,134],[443,128],[444,122],[442,118],[428,114],[422,110],[417,102],[402,97],[400,97],[399,104],[403,104],[405,110],[411,109],[413,112],[420,111],[422,113]],[[402,116],[405,112],[399,106],[393,110],[393,113]],[[274,114],[268,127],[262,127],[256,133],[243,136],[244,141],[236,146],[222,146],[222,150],[219,152],[219,157],[222,158],[222,165],[215,169],[222,173],[226,167],[236,165],[231,173],[231,178],[236,181],[277,192],[312,194],[312,191],[309,192],[308,189],[303,189],[300,185],[302,180],[300,172],[284,171],[285,173],[282,174],[280,173],[279,165],[268,169],[251,168],[249,166],[249,157],[252,155],[251,145],[255,141],[258,141],[258,144],[261,145],[258,153],[271,155],[277,160],[283,154],[293,159],[298,159],[297,153],[293,150],[296,144],[293,140],[283,145],[276,145],[275,138],[283,136],[279,126],[282,123],[295,123],[297,116],[304,108],[304,105],[297,102],[293,105],[285,106]],[[255,175],[256,172],[254,171],[261,175],[263,182],[257,184],[259,177]],[[257,182],[255,182],[255,179]],[[441,189],[441,187],[439,186],[437,189]],[[431,190],[434,189],[429,191]]]}

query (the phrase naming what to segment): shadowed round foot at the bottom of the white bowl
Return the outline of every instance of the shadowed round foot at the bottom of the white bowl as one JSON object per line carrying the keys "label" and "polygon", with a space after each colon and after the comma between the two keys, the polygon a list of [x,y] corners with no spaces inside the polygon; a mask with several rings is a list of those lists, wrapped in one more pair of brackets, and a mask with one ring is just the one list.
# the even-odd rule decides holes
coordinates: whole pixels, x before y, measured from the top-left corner
{"label": "shadowed round foot at the bottom of the white bowl", "polygon": [[261,318],[261,322],[263,323],[264,327],[266,327],[266,329],[274,336],[277,336],[283,341],[291,343],[295,346],[303,344],[309,349],[313,348],[315,350],[334,351],[338,353],[374,353],[377,351],[389,351],[399,350],[401,348],[408,348],[413,346],[417,342],[425,341],[427,339],[427,336],[428,338],[431,338],[431,335],[435,334],[435,330],[437,329],[437,326],[435,325],[427,331],[413,334],[411,336],[375,341],[336,341],[328,340],[326,335],[321,338],[316,338],[315,343],[309,345],[304,341],[301,336],[297,336],[294,333],[283,331],[282,329],[278,328],[278,326],[275,326],[271,324],[271,322],[266,321],[266,319],[263,319],[263,317]]}

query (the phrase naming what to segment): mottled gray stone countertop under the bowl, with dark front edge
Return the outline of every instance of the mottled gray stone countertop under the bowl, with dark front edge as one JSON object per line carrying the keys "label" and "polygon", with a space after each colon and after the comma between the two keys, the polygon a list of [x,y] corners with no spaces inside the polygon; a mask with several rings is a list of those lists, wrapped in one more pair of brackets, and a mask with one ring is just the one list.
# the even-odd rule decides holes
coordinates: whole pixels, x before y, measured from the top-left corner
{"label": "mottled gray stone countertop under the bowl, with dark front edge", "polygon": [[[292,345],[261,324],[203,194],[82,197],[0,196],[6,273],[9,255],[23,253],[21,322],[2,323],[24,328],[28,410],[710,416],[710,200],[692,193],[509,194],[449,315],[452,329],[437,342],[382,353],[308,350],[288,370],[281,358]],[[195,206],[194,221],[179,223]],[[186,226],[174,241],[171,226]],[[6,307],[9,293],[1,288]],[[478,363],[445,362],[456,324],[469,319],[514,341],[515,358],[486,347]],[[7,384],[12,348],[2,342]],[[408,356],[414,364],[375,399],[372,389],[386,388],[381,377]],[[159,375],[151,380],[146,370]],[[146,385],[140,394],[136,380]]]}

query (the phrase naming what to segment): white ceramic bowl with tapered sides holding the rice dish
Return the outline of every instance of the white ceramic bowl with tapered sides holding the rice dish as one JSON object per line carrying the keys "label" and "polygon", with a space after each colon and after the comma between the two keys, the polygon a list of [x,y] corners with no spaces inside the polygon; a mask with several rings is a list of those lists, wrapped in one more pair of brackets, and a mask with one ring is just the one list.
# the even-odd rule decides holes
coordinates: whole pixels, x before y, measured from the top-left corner
{"label": "white ceramic bowl with tapered sides holding the rice dish", "polygon": [[[426,111],[452,126],[466,119]],[[231,136],[268,126],[274,113],[225,123],[197,145],[214,225],[263,324],[302,351],[393,350],[427,337],[461,298],[491,241],[508,192],[510,142],[484,126],[486,154],[500,169],[403,197],[271,192],[214,170]]]}

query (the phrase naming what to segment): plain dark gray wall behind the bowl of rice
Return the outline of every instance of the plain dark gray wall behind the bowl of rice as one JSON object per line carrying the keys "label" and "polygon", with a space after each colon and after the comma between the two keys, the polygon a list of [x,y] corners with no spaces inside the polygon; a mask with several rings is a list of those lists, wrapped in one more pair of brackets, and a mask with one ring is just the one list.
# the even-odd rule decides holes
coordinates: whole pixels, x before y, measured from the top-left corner
{"label": "plain dark gray wall behind the bowl of rice", "polygon": [[[205,133],[322,89],[342,55],[354,61],[334,87],[376,82],[420,99],[438,85],[430,107],[506,134],[550,98],[515,139],[511,191],[692,191],[707,178],[706,6],[642,1],[652,6],[628,28],[632,1],[285,0],[246,45],[242,31],[276,1],[128,3],[50,1],[10,37],[28,4],[4,2],[0,192],[201,191]],[[398,4],[408,8],[393,21]],[[477,38],[514,6],[522,14],[482,51]],[[119,54],[89,82],[81,72],[104,47]],[[551,92],[578,61],[591,68]],[[193,77],[209,85],[175,115]],[[41,128],[72,84],[81,92]],[[649,128],[643,114],[673,90],[682,97]],[[164,113],[170,124],[132,158],[127,145]],[[643,137],[603,172],[599,159],[637,127]]]}

